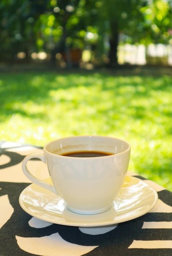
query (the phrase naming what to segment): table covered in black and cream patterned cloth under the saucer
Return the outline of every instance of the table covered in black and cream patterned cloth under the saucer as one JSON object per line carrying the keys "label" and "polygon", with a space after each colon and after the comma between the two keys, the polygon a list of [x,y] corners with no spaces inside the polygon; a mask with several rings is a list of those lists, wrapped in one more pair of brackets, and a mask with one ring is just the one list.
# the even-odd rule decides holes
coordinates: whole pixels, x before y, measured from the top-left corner
{"label": "table covered in black and cream patterned cloth under the saucer", "polygon": [[[52,224],[26,213],[20,193],[30,184],[22,160],[41,147],[0,141],[0,256],[165,256],[172,255],[172,193],[135,173],[158,193],[156,206],[144,216],[105,227]],[[38,159],[28,163],[39,177],[48,177]]]}

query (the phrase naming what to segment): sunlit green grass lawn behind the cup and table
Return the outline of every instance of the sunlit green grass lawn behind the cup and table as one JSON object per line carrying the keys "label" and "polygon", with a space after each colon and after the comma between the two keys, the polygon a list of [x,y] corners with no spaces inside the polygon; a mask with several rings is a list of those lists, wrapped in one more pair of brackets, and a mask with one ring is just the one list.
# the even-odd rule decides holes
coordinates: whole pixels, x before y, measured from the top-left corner
{"label": "sunlit green grass lawn behind the cup and table", "polygon": [[120,137],[131,144],[129,170],[172,191],[172,77],[0,73],[0,105],[0,140]]}

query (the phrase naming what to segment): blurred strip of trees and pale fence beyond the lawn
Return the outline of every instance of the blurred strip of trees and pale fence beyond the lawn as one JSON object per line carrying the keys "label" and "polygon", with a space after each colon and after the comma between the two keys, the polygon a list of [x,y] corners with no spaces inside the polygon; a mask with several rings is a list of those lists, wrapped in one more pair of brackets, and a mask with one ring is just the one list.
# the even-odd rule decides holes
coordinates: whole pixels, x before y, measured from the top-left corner
{"label": "blurred strip of trees and pale fence beyond the lawn", "polygon": [[6,63],[172,65],[172,1],[1,0],[0,46]]}

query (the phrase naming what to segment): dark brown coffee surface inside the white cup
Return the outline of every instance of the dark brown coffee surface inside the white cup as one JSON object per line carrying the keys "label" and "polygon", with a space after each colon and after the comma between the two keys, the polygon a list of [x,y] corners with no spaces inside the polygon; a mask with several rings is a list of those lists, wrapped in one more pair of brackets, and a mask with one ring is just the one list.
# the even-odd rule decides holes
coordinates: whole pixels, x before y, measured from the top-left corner
{"label": "dark brown coffee surface inside the white cup", "polygon": [[[53,154],[58,154],[58,150],[55,150]],[[112,153],[101,152],[101,151],[78,151],[78,152],[68,152],[65,154],[60,154],[65,157],[104,157],[107,155],[114,155]]]}

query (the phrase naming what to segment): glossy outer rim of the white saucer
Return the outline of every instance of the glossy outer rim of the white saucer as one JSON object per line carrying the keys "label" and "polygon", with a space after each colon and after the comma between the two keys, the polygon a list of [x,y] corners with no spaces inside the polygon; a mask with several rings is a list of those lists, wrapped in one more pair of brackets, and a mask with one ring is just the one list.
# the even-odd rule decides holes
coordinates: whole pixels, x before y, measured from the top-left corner
{"label": "glossy outer rim of the white saucer", "polygon": [[[131,215],[131,216],[128,216],[128,217],[125,217],[125,218],[121,218],[121,219],[118,219],[118,220],[115,220],[115,218],[111,221],[104,221],[104,222],[91,222],[91,223],[85,223],[85,222],[67,222],[65,221],[63,218],[61,218],[61,221],[59,221],[59,219],[57,221],[54,221],[54,220],[51,220],[50,218],[46,218],[44,216],[38,216],[36,213],[34,214],[32,211],[30,211],[26,205],[24,204],[24,201],[22,200],[22,195],[24,195],[24,193],[26,193],[26,191],[31,187],[33,186],[37,186],[39,187],[38,185],[32,183],[30,184],[29,186],[27,186],[21,193],[20,193],[20,196],[19,196],[19,204],[20,204],[20,207],[26,212],[28,213],[30,216],[32,217],[35,217],[39,220],[43,220],[43,221],[46,221],[46,222],[49,222],[49,223],[52,223],[52,224],[58,224],[58,225],[64,225],[64,226],[72,226],[72,227],[103,227],[103,226],[110,226],[110,225],[117,225],[119,223],[123,223],[123,222],[127,222],[129,220],[134,220],[136,218],[139,218],[143,215],[145,215],[146,213],[148,213],[153,207],[155,207],[155,205],[157,204],[157,201],[158,201],[158,194],[157,194],[157,191],[155,191],[154,188],[152,188],[152,186],[150,186],[149,184],[147,184],[146,182],[144,182],[143,180],[137,178],[137,177],[134,177],[134,176],[130,176],[130,175],[126,175],[126,177],[130,177],[131,179],[134,179],[134,180],[137,180],[138,182],[142,182],[144,184],[146,184],[146,186],[150,189],[150,191],[152,191],[152,195],[154,195],[154,200],[152,199],[152,204],[146,208],[145,210],[143,210],[142,212],[140,212],[139,214],[135,214],[135,215]],[[40,187],[39,187],[40,188]],[[42,189],[42,188],[41,188]],[[49,191],[50,192],[50,191]],[[50,192],[52,193],[52,192]],[[53,193],[52,193],[53,194]],[[60,196],[58,196],[59,198],[61,198]],[[112,207],[113,207],[113,204],[115,202],[115,199],[113,200],[113,203],[112,203]],[[142,205],[144,206],[144,204]],[[70,211],[70,210],[69,210]],[[108,213],[109,210],[106,211],[106,213]],[[78,215],[78,213],[73,213],[71,212],[72,214],[76,214]],[[96,215],[99,215],[99,214],[103,214],[103,213],[98,213],[98,214],[94,214],[94,216]],[[79,214],[81,216],[81,214]],[[91,216],[91,215],[87,215],[87,216]],[[122,214],[121,214],[122,216]],[[119,218],[119,216],[118,216]]]}

